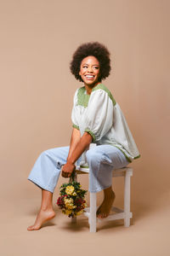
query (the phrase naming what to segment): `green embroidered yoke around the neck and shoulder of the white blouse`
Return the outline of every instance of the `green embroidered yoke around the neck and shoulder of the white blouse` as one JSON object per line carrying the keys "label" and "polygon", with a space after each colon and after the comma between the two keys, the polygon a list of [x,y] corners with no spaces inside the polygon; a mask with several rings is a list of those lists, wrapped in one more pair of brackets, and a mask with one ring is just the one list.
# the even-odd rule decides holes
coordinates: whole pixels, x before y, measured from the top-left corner
{"label": "green embroidered yoke around the neck and shoulder of the white blouse", "polygon": [[[111,101],[113,102],[113,106],[116,105],[116,101],[115,99],[113,98],[112,94],[111,94],[111,91],[108,90],[104,84],[98,84],[96,85],[93,89],[92,89],[92,92],[94,90],[105,90],[105,92],[108,94],[108,96],[111,98]],[[86,92],[86,89],[85,89],[85,86],[81,87],[79,90],[78,90],[78,93],[77,93],[77,98],[78,98],[78,101],[77,101],[77,105],[81,105],[83,106],[84,108],[87,108],[88,107],[88,101],[89,101],[89,98],[90,98],[90,95],[87,94]]]}

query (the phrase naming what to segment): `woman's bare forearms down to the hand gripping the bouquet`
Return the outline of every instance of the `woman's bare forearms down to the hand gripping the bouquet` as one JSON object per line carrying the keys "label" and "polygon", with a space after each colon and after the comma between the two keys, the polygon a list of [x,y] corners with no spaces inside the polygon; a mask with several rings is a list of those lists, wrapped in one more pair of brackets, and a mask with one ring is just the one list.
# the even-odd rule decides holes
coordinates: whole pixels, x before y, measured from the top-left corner
{"label": "woman's bare forearms down to the hand gripping the bouquet", "polygon": [[67,162],[62,168],[62,177],[71,177],[71,173],[75,169],[75,162],[92,142],[92,137],[88,132],[84,132],[83,136],[77,141],[74,141],[73,137],[74,135],[72,134],[71,149],[67,157]]}

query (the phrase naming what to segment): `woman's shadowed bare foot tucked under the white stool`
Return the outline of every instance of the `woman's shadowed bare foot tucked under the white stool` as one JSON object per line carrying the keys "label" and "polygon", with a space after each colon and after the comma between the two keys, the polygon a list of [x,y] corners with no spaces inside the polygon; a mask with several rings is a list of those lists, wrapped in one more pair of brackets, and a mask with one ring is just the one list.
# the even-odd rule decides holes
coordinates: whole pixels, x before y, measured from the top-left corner
{"label": "woman's shadowed bare foot tucked under the white stool", "polygon": [[111,194],[105,196],[104,201],[102,204],[99,206],[96,215],[97,218],[106,218],[109,216],[109,213],[111,212],[111,207],[113,204],[113,201],[115,200],[115,193],[113,190],[111,190]]}

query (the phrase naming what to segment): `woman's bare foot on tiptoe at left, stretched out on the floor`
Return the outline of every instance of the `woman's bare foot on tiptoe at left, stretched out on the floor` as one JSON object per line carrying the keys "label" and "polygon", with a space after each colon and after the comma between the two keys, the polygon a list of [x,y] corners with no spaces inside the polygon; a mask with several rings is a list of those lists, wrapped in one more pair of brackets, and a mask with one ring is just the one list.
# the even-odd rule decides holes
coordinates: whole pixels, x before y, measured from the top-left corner
{"label": "woman's bare foot on tiptoe at left, stretched out on the floor", "polygon": [[40,210],[40,212],[38,213],[37,215],[37,218],[36,218],[36,221],[35,221],[35,224],[29,226],[27,228],[27,230],[39,230],[41,229],[42,227],[42,224],[46,221],[48,221],[49,219],[51,218],[54,218],[55,217],[55,212],[54,210]]}

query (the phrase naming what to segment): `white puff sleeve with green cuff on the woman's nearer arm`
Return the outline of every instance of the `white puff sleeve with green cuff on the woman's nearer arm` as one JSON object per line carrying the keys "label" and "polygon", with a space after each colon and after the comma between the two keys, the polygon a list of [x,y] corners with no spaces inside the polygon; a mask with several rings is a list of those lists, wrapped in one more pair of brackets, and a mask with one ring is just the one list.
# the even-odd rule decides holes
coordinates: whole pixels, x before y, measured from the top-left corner
{"label": "white puff sleeve with green cuff on the woman's nearer arm", "polygon": [[94,90],[84,117],[84,132],[87,131],[95,142],[104,137],[112,125],[113,102],[110,96],[105,90]]}

